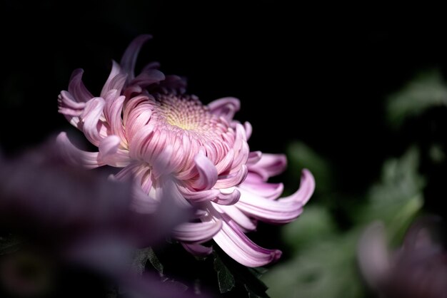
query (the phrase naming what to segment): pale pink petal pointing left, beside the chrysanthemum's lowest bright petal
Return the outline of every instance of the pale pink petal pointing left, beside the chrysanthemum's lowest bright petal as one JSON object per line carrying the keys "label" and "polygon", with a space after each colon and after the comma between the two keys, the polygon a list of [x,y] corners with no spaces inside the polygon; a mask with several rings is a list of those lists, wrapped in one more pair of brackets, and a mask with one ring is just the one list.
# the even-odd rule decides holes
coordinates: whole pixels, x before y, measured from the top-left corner
{"label": "pale pink petal pointing left, beside the chrysanthemum's lowest bright petal", "polygon": [[206,242],[221,230],[221,220],[185,222],[172,230],[172,237],[183,242]]}

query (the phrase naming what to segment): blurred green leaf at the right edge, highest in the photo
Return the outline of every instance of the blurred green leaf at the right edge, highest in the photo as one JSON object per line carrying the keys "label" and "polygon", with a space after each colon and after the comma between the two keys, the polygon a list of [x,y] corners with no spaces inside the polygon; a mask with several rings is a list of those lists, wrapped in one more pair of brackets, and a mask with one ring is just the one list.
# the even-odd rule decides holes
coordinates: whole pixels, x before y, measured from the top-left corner
{"label": "blurred green leaf at the right edge, highest in the photo", "polygon": [[421,73],[401,91],[388,97],[387,113],[391,125],[399,127],[406,120],[433,106],[447,103],[447,88],[436,70]]}

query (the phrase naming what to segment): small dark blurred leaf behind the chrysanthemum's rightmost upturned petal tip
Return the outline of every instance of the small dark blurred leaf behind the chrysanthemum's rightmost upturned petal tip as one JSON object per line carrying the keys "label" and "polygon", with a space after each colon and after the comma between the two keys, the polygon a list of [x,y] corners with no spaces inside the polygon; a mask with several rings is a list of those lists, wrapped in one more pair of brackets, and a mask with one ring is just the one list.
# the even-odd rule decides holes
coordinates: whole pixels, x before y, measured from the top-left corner
{"label": "small dark blurred leaf behind the chrysanthemum's rightmost upturned petal tip", "polygon": [[301,172],[297,169],[307,168],[311,170],[315,177],[316,192],[327,193],[333,188],[333,173],[331,172],[331,165],[328,160],[318,155],[308,145],[295,141],[288,145],[288,177],[293,179],[293,183],[301,179]]}

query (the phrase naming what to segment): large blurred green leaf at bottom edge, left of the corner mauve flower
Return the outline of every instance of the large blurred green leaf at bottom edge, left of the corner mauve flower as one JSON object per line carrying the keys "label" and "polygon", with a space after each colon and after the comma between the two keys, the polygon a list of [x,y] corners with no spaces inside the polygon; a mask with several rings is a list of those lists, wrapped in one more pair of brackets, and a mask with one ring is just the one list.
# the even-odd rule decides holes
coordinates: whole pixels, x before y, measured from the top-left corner
{"label": "large blurred green leaf at bottom edge, left of the corner mauve flower", "polygon": [[358,232],[321,239],[293,260],[273,267],[263,281],[268,294],[282,298],[356,298],[362,287],[356,267]]}

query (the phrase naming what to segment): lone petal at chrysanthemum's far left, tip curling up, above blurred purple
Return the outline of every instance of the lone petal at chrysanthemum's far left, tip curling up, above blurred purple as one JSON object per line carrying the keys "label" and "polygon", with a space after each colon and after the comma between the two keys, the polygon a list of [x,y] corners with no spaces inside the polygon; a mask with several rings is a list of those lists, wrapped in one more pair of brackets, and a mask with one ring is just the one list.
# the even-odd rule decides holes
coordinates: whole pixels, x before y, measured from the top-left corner
{"label": "lone petal at chrysanthemum's far left, tip curling up, above blurred purple", "polygon": [[104,163],[99,162],[99,153],[87,152],[76,148],[76,146],[70,142],[66,133],[59,133],[56,138],[56,143],[59,145],[59,148],[61,148],[61,154],[64,158],[73,165],[82,165],[89,169],[98,168],[101,167],[101,165],[104,165]]}

